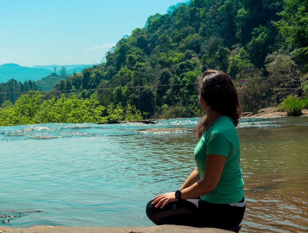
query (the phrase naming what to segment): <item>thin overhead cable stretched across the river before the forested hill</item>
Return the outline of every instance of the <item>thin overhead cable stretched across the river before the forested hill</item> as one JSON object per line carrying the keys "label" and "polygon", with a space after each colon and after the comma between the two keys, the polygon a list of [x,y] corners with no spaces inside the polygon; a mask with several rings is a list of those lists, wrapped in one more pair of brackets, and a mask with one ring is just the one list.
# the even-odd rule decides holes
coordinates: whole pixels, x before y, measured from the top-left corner
{"label": "thin overhead cable stretched across the river before the forested hill", "polygon": [[[261,79],[261,78],[274,78],[274,77],[285,77],[290,76],[291,74],[286,75],[276,75],[276,76],[268,76],[268,77],[257,77],[257,78],[245,78],[245,79],[235,79],[232,81],[240,81],[240,80],[251,80],[251,79]],[[83,91],[83,90],[111,90],[111,89],[122,89],[122,88],[140,88],[140,87],[158,87],[158,86],[177,86],[177,85],[190,85],[190,84],[198,84],[197,82],[189,82],[189,83],[178,83],[178,84],[164,84],[164,85],[149,85],[149,86],[122,86],[122,87],[105,87],[105,88],[92,88],[92,89],[78,89],[78,90],[44,90],[39,92],[65,92],[65,91]],[[36,90],[33,90],[36,91]],[[30,91],[21,91],[21,92],[0,92],[0,94],[20,94],[20,93],[30,93]]]}

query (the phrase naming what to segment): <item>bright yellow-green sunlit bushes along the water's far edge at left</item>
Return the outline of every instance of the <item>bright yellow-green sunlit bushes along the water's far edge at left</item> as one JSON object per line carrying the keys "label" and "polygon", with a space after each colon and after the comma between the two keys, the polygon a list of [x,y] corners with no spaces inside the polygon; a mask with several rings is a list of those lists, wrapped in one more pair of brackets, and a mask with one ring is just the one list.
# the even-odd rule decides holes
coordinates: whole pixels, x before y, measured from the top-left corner
{"label": "bright yellow-green sunlit bushes along the water's far edge at left", "polygon": [[[121,103],[108,110],[99,105],[99,101],[92,94],[90,98],[77,98],[64,94],[56,99],[51,97],[42,102],[39,91],[31,91],[22,95],[15,104],[10,101],[3,103],[0,108],[0,126],[25,125],[35,123],[99,123],[108,120],[142,120],[142,115],[136,106]],[[146,114],[146,113],[144,113]]]}

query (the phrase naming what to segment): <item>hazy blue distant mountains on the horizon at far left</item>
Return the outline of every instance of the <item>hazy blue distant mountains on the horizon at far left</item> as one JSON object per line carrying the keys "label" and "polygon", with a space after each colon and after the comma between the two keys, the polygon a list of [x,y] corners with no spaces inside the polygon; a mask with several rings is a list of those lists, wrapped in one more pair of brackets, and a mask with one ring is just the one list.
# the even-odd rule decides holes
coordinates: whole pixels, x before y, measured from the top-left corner
{"label": "hazy blue distant mountains on the horizon at far left", "polygon": [[[84,68],[93,66],[91,65],[64,65],[67,69],[67,74],[73,74],[74,71],[80,73]],[[0,65],[0,83],[7,82],[10,79],[14,78],[18,82],[24,82],[26,80],[36,81],[40,78],[46,77],[47,75],[53,73],[54,66],[57,67],[57,70],[61,70],[61,65],[48,65],[48,66],[20,66],[14,63],[7,63]]]}

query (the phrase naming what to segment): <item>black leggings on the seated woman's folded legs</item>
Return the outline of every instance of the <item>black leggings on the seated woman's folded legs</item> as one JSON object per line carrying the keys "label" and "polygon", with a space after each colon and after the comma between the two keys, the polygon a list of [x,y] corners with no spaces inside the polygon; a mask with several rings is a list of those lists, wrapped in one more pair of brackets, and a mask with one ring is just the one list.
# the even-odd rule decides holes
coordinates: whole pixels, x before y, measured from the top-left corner
{"label": "black leggings on the seated woman's folded legs", "polygon": [[[152,201],[150,201],[147,204],[146,213],[156,225],[173,224],[225,230],[233,230],[243,220],[245,206],[214,204],[201,199],[194,201],[197,202],[197,205],[187,200],[180,200],[170,202],[162,209],[155,208],[155,205],[152,205]],[[244,198],[241,202],[243,201]]]}

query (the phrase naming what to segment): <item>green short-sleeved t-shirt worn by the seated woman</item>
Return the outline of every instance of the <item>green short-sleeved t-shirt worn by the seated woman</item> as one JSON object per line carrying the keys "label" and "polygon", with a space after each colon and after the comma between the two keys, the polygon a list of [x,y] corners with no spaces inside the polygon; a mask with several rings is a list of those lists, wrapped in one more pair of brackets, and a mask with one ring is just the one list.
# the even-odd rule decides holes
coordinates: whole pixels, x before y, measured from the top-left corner
{"label": "green short-sleeved t-shirt worn by the seated woman", "polygon": [[200,178],[204,176],[207,154],[226,156],[221,178],[215,189],[203,196],[209,203],[235,203],[244,196],[242,170],[240,166],[240,141],[233,125],[233,119],[221,116],[205,130],[195,148],[195,160]]}

